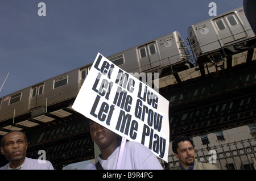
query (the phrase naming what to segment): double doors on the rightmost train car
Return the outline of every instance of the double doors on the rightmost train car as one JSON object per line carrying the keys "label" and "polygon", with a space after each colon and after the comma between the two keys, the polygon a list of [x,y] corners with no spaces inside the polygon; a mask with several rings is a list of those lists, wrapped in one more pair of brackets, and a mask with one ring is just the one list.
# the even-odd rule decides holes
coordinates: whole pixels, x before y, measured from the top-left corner
{"label": "double doors on the rightmost train car", "polygon": [[234,13],[215,19],[214,23],[222,44],[227,44],[247,36],[240,20]]}

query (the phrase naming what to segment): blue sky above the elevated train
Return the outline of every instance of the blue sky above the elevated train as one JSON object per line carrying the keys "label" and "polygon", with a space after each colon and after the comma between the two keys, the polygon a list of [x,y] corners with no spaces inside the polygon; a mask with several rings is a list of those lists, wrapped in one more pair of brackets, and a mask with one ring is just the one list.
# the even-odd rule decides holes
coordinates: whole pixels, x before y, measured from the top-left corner
{"label": "blue sky above the elevated train", "polygon": [[[38,4],[46,4],[39,16]],[[243,6],[243,0],[1,0],[0,97]]]}

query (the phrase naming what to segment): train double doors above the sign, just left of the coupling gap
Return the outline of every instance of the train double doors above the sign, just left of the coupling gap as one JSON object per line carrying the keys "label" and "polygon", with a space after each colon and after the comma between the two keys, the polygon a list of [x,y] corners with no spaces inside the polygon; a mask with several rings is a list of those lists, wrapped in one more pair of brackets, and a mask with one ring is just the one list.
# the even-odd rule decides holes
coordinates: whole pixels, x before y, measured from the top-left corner
{"label": "train double doors above the sign, just left of the coupling gap", "polygon": [[141,71],[146,71],[161,65],[160,54],[156,48],[155,41],[138,47],[138,54]]}

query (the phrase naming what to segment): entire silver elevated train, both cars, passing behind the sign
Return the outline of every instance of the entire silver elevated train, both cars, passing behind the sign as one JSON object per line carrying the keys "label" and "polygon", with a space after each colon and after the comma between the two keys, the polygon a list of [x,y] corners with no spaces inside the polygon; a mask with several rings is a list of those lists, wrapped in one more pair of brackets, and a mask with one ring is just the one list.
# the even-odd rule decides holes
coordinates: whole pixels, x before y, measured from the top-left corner
{"label": "entire silver elevated train, both cars, passing behind the sign", "polygon": [[[226,49],[236,53],[249,48],[251,41],[255,42],[243,7],[194,24],[188,33],[196,58]],[[188,56],[180,33],[175,31],[107,58],[129,73],[158,72],[162,77],[191,68]],[[38,112],[47,112],[47,106],[76,98],[90,66],[92,64],[0,98],[0,122],[27,113],[35,117]]]}

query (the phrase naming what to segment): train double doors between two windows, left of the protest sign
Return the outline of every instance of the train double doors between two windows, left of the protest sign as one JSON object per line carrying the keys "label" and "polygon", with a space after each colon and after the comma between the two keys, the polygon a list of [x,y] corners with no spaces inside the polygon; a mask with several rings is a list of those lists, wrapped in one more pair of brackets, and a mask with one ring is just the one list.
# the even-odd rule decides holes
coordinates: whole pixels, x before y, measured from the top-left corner
{"label": "train double doors between two windows, left of the protest sign", "polygon": [[30,109],[41,106],[43,104],[44,83],[34,86],[30,94]]}

